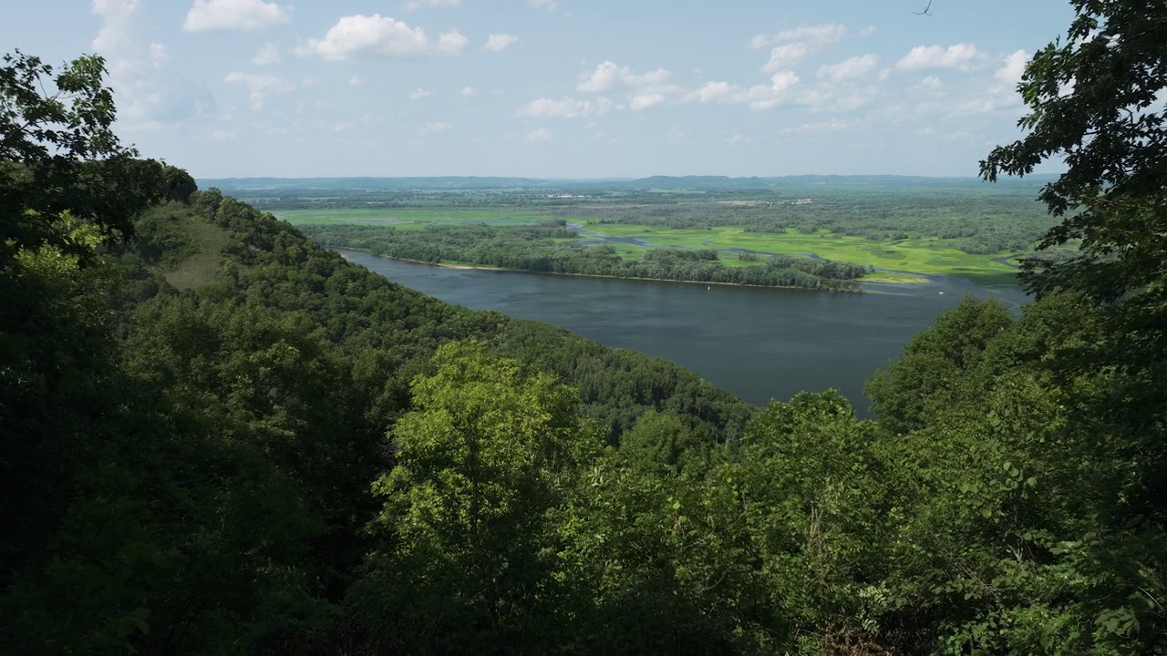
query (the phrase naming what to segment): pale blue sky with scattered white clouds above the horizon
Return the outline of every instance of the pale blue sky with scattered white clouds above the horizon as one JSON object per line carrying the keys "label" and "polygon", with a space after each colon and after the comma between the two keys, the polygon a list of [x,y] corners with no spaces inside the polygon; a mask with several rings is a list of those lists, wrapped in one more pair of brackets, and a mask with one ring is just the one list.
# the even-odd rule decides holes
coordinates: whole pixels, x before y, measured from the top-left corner
{"label": "pale blue sky with scattered white clouds above the horizon", "polygon": [[976,175],[1071,8],[925,6],[41,0],[0,43],[105,57],[123,141],[200,179]]}

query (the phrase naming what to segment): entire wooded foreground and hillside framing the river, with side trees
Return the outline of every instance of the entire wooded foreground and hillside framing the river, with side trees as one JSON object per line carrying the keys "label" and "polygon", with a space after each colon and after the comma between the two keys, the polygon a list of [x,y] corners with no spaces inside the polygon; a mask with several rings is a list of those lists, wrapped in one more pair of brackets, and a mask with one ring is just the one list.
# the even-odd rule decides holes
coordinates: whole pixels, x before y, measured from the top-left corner
{"label": "entire wooded foreground and hillside framing the river, with side trees", "polygon": [[1077,257],[862,421],[405,289],[7,56],[0,651],[1167,652],[1167,7],[1074,6],[981,170],[1064,155]]}

